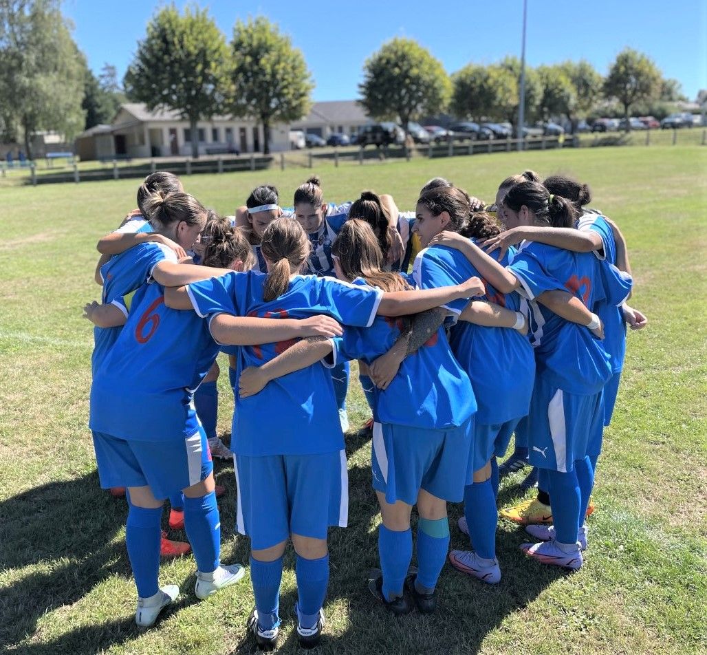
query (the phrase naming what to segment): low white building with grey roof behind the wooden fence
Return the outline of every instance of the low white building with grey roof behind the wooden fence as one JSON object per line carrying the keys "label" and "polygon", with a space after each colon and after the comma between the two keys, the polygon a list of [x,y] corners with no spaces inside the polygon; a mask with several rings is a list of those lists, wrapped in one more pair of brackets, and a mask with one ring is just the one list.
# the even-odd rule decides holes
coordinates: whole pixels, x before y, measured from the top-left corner
{"label": "low white building with grey roof behind the wooden fence", "polygon": [[[143,103],[125,103],[110,126],[97,126],[76,139],[79,154],[93,158],[144,158],[191,156],[192,138],[199,141],[199,154],[262,152],[262,126],[251,120],[214,116],[197,123],[192,135],[189,122],[173,110],[148,111]],[[270,150],[289,149],[289,126],[270,128]],[[81,158],[86,158],[82,156]]]}

